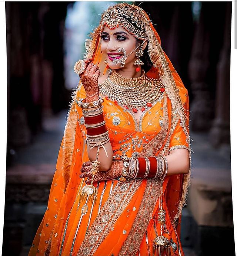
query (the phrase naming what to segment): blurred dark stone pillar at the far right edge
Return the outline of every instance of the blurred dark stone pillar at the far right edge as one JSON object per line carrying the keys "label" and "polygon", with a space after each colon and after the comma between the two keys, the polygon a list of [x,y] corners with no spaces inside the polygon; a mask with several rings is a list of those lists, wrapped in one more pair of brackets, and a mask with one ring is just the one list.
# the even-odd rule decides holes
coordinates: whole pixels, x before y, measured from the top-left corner
{"label": "blurred dark stone pillar at the far right edge", "polygon": [[231,6],[226,4],[224,42],[217,64],[215,119],[210,130],[213,146],[230,143],[230,39]]}

